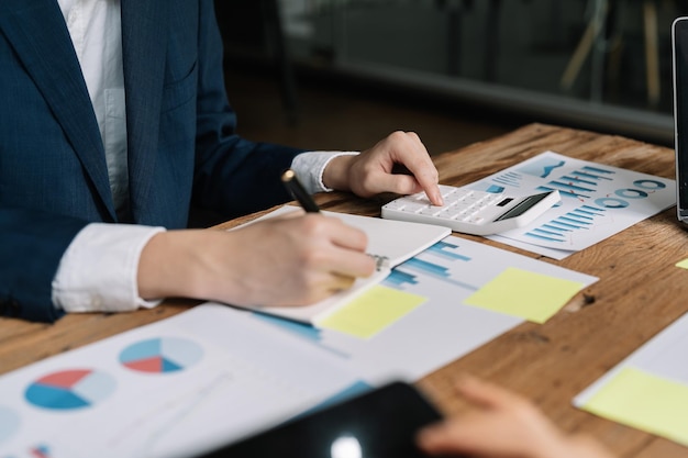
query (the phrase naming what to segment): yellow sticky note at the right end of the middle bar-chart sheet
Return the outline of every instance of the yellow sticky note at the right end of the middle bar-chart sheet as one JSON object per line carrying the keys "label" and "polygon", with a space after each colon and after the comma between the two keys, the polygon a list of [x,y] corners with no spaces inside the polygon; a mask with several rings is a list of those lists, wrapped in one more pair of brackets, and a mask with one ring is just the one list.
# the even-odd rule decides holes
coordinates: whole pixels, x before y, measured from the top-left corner
{"label": "yellow sticky note at the right end of the middle bar-chart sheet", "polygon": [[584,286],[578,281],[510,267],[464,303],[544,323]]}

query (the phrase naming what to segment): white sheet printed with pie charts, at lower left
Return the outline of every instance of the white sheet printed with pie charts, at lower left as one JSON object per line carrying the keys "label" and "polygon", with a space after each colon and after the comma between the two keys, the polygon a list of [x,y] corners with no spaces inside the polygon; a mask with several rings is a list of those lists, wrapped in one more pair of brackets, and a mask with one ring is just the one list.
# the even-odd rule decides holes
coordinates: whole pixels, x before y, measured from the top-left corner
{"label": "white sheet printed with pie charts, at lower left", "polygon": [[[170,344],[160,353],[181,369],[144,372],[121,361],[126,348],[156,339]],[[52,387],[37,383],[70,369],[92,371],[64,393],[84,407],[59,407]],[[346,365],[247,312],[201,305],[1,377],[0,429],[14,432],[0,434],[0,456],[188,457],[360,383]],[[13,420],[3,423],[2,412]]]}

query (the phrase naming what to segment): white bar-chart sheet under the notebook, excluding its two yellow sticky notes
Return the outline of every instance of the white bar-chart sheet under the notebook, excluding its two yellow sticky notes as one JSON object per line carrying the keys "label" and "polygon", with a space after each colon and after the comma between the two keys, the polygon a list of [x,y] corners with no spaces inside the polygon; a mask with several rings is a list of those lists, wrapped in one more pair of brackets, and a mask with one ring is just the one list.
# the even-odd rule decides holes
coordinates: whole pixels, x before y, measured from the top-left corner
{"label": "white bar-chart sheet under the notebook, excluding its two yellow sticky notes", "polygon": [[349,361],[354,371],[369,382],[393,376],[417,380],[524,321],[463,303],[510,267],[580,282],[584,288],[597,281],[596,277],[550,262],[448,236],[399,265],[380,283],[426,300],[371,338],[360,339],[259,314],[253,316],[269,323],[276,332],[298,335],[342,361]]}

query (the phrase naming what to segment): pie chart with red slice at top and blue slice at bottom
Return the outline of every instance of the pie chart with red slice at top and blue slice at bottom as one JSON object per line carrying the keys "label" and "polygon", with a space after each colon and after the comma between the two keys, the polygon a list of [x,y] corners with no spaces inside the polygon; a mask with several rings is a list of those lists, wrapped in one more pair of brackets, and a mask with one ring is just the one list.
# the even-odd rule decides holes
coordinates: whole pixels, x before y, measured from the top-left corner
{"label": "pie chart with red slice at top and blue slice at bottom", "polygon": [[48,373],[26,388],[24,396],[37,407],[65,411],[90,407],[114,392],[115,381],[93,369]]}

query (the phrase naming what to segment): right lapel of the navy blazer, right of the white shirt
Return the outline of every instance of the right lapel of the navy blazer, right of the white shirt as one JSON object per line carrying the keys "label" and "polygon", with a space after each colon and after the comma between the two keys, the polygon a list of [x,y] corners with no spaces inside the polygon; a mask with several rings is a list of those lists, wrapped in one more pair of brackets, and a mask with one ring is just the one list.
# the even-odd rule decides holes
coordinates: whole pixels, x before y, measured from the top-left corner
{"label": "right lapel of the navy blazer, right of the white shirt", "polygon": [[168,0],[121,1],[129,186],[132,215],[141,221],[158,147]]}

